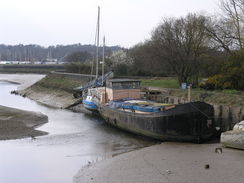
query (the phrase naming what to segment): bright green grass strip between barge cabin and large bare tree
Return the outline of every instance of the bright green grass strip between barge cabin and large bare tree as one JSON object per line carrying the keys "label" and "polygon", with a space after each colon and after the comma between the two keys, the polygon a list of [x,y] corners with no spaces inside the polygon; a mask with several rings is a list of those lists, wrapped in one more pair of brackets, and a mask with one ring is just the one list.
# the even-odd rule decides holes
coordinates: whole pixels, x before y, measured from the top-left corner
{"label": "bright green grass strip between barge cabin and large bare tree", "polygon": [[159,88],[179,88],[177,79],[171,77],[144,79],[141,81],[141,85],[146,87],[151,86]]}

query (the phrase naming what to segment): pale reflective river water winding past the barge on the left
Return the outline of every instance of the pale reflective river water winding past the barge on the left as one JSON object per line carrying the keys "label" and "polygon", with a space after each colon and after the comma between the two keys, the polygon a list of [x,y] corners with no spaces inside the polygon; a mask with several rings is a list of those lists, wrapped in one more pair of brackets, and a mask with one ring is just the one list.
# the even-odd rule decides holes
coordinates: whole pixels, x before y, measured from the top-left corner
{"label": "pale reflective river water winding past the barge on the left", "polygon": [[116,128],[100,118],[54,109],[11,95],[17,85],[0,81],[0,105],[38,111],[49,122],[38,130],[46,136],[0,141],[1,183],[71,183],[90,163],[155,144]]}

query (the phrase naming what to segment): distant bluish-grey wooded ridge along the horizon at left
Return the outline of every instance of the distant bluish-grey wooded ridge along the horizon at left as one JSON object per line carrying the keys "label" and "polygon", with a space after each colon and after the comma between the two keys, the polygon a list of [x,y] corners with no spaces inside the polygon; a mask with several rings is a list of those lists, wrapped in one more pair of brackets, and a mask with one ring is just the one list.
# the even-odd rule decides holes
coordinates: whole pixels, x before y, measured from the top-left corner
{"label": "distant bluish-grey wooded ridge along the horizon at left", "polygon": [[[119,46],[106,47],[107,52],[120,50]],[[89,55],[94,54],[96,47],[94,45],[57,45],[42,47],[40,45],[4,45],[0,44],[0,60],[2,61],[45,61],[47,59],[57,59],[60,61],[70,60],[70,55],[74,53],[81,53],[85,56],[83,60]],[[99,48],[102,53],[102,48]],[[85,53],[85,54],[84,54]]]}

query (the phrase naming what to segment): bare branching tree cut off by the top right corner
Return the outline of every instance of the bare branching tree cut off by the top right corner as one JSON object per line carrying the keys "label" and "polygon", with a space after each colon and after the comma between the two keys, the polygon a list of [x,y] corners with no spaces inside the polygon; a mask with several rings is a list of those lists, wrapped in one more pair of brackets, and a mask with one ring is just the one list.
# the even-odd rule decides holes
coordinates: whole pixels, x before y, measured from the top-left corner
{"label": "bare branching tree cut off by the top right corner", "polygon": [[244,48],[244,0],[221,0],[221,18],[206,27],[215,45],[229,53]]}

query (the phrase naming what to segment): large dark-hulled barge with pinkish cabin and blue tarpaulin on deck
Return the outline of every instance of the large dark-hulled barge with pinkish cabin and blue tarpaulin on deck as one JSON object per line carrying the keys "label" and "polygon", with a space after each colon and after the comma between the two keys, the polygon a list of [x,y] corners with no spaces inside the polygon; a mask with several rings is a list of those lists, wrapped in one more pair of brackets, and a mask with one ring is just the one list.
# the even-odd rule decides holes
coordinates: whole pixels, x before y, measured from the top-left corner
{"label": "large dark-hulled barge with pinkish cabin and blue tarpaulin on deck", "polygon": [[96,104],[117,128],[162,141],[200,143],[213,135],[214,109],[205,102],[161,104],[140,99],[140,81],[110,79],[98,89]]}

